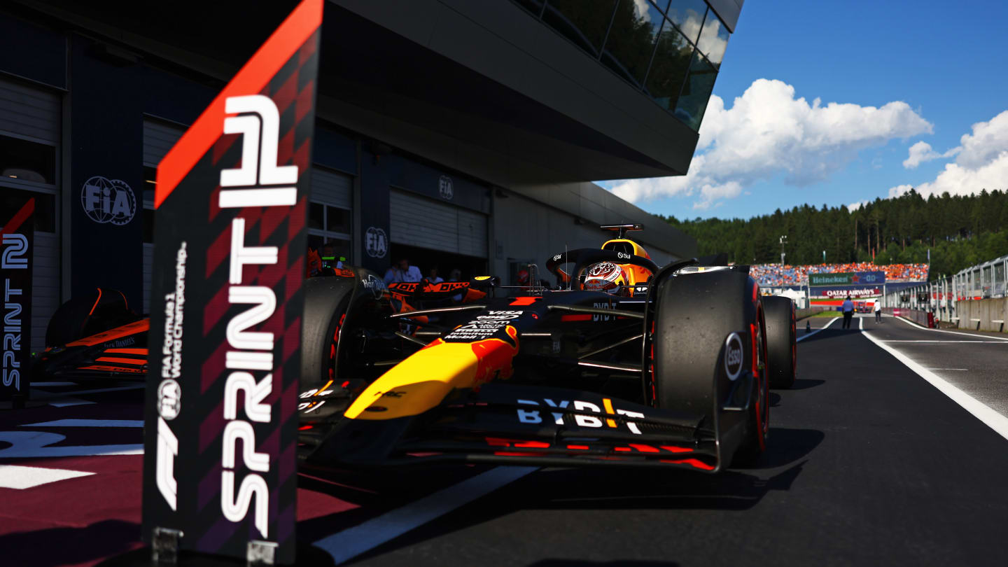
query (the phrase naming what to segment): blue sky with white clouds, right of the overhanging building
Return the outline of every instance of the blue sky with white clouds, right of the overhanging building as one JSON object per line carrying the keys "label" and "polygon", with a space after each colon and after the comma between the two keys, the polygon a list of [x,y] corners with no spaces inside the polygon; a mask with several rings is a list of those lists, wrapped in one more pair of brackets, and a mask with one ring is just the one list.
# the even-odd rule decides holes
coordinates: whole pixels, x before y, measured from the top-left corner
{"label": "blue sky with white clouds, right of the overhanging building", "polygon": [[1005,22],[1003,2],[750,0],[689,176],[604,185],[678,218],[1008,189]]}

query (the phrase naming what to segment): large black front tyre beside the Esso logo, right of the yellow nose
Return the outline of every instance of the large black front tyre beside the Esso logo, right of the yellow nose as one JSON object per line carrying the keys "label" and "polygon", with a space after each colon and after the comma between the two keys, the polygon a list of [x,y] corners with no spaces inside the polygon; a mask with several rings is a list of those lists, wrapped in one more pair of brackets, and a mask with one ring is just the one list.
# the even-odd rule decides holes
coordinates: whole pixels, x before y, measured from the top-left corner
{"label": "large black front tyre beside the Esso logo, right of the yellow nose", "polygon": [[[703,415],[711,429],[717,424],[726,461],[733,454],[744,460],[759,455],[766,447],[769,424],[765,372],[759,371],[751,382],[755,391],[747,411],[721,411],[735,382],[747,379],[746,372],[753,367],[753,344],[758,345],[759,363],[765,361],[756,282],[741,271],[717,270],[669,277],[657,286],[651,352],[645,353],[652,365],[645,383],[651,403]],[[743,352],[749,353],[735,379],[725,361],[732,333],[738,333]]]}

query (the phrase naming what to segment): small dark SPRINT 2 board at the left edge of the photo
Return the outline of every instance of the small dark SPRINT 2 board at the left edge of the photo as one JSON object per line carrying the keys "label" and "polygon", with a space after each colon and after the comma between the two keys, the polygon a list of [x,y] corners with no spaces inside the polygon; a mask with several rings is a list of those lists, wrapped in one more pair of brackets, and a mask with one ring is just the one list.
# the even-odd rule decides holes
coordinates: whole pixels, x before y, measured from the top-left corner
{"label": "small dark SPRINT 2 board at the left edge of the photo", "polygon": [[[20,192],[18,192],[20,193]],[[5,199],[0,212],[0,402],[28,396],[31,364],[31,262],[34,252],[35,199]]]}

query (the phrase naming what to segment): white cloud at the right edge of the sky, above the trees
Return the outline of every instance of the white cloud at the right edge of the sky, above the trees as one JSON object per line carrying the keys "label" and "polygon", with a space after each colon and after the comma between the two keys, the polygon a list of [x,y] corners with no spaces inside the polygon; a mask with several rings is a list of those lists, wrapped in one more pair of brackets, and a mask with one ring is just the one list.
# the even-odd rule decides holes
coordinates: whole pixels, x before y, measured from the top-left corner
{"label": "white cloud at the right edge of the sky, above the trees", "polygon": [[[1008,110],[998,114],[988,122],[973,125],[972,134],[963,134],[960,145],[941,156],[956,153],[955,163],[947,163],[934,181],[916,186],[917,193],[925,198],[929,195],[973,195],[984,189],[992,191],[1008,190]],[[910,147],[910,161],[913,148],[921,144],[927,146],[922,151],[927,155],[930,146],[917,142]],[[903,164],[906,165],[907,161]],[[909,185],[899,185],[889,189],[889,197],[899,197],[910,191]]]}

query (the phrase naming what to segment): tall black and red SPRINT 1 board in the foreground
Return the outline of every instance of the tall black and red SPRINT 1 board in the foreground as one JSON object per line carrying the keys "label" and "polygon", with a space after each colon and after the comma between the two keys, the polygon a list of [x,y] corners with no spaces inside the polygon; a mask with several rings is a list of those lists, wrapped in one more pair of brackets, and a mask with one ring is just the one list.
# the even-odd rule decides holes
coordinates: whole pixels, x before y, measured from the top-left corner
{"label": "tall black and red SPRINT 1 board in the foreground", "polygon": [[[322,0],[157,167],[143,537],[294,561],[297,380]],[[240,30],[241,27],[236,27]],[[275,547],[274,547],[275,545]]]}

